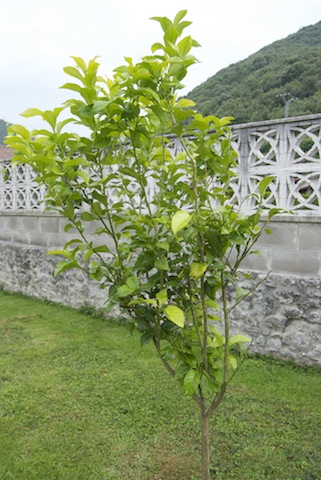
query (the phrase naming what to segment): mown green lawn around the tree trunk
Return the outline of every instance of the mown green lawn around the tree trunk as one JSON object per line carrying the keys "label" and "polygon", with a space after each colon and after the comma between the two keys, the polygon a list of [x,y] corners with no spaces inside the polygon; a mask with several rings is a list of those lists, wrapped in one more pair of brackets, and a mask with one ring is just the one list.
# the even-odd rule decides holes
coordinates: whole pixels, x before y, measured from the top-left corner
{"label": "mown green lawn around the tree trunk", "polygon": [[[211,428],[216,480],[320,480],[320,370],[247,360]],[[199,468],[197,409],[152,346],[0,293],[0,480],[199,480]]]}

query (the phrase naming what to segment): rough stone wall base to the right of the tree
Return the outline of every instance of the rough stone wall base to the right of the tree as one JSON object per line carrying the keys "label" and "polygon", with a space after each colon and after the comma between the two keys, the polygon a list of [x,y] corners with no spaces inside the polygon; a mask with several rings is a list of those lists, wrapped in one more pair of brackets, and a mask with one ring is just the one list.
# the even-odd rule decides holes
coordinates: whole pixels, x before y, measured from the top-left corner
{"label": "rough stone wall base to the right of the tree", "polygon": [[320,278],[271,274],[243,299],[233,317],[233,333],[252,338],[253,352],[321,366]]}

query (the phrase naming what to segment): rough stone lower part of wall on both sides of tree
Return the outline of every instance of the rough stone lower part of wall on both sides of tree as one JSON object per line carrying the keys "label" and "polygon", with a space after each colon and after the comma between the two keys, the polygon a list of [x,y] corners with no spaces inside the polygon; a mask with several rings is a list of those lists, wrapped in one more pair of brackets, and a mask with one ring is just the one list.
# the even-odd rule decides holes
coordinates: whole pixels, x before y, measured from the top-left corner
{"label": "rough stone lower part of wall on both sides of tree", "polygon": [[[106,290],[78,270],[54,278],[56,262],[44,247],[0,243],[0,286],[72,307],[103,307]],[[270,275],[235,309],[232,330],[253,339],[253,352],[321,365],[321,279]]]}

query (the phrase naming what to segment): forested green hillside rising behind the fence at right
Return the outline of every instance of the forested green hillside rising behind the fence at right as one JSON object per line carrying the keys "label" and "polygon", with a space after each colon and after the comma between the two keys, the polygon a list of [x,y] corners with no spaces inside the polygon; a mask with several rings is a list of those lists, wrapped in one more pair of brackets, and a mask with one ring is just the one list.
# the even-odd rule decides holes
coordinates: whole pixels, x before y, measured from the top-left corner
{"label": "forested green hillside rising behind the fence at right", "polygon": [[290,116],[321,112],[321,21],[224,68],[188,97],[205,115],[244,123],[282,118],[277,95],[287,92],[295,97]]}

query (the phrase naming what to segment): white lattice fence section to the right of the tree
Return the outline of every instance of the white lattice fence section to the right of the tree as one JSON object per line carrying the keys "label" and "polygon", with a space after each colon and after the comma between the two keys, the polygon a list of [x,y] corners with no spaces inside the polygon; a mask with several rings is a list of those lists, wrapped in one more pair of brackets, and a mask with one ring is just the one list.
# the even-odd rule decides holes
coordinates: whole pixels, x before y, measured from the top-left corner
{"label": "white lattice fence section to the right of the tree", "polygon": [[250,210],[258,182],[273,175],[267,207],[321,215],[321,115],[236,126],[236,195]]}

